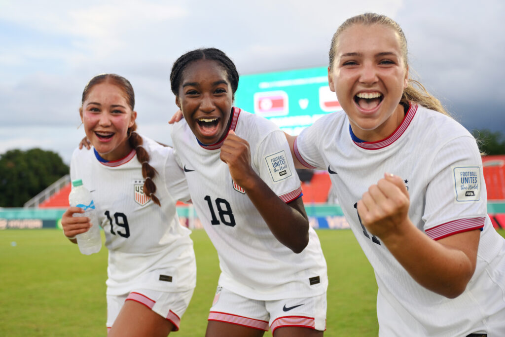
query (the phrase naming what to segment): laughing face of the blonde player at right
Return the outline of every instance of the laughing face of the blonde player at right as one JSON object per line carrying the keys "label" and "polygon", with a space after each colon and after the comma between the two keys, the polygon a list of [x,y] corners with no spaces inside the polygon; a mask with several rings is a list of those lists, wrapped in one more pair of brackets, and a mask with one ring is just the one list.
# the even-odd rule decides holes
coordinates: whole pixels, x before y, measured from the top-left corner
{"label": "laughing face of the blonde player at right", "polygon": [[355,24],[340,33],[328,80],[356,136],[377,141],[393,133],[404,117],[408,74],[392,28]]}

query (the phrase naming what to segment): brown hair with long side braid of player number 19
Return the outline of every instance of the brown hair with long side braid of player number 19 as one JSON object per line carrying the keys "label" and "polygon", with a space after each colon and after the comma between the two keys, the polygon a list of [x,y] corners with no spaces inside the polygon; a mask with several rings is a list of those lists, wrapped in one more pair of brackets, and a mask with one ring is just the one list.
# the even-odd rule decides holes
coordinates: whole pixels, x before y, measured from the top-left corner
{"label": "brown hair with long side braid of player number 19", "polygon": [[[82,92],[82,101],[81,101],[81,107],[84,101],[86,101],[86,98],[89,94],[89,91],[93,86],[96,84],[100,83],[111,83],[119,88],[121,88],[125,95],[126,99],[128,101],[128,105],[130,106],[131,110],[133,111],[135,107],[135,93],[133,92],[133,86],[131,85],[130,81],[128,81],[126,78],[123,76],[119,76],[116,74],[100,74],[96,75],[93,77],[88,84],[84,87],[84,91]],[[156,192],[156,184],[153,181],[155,175],[158,173],[156,169],[152,166],[149,165],[149,153],[144,149],[142,146],[142,137],[135,132],[137,129],[137,124],[134,123],[130,128],[127,130],[127,136],[128,136],[128,142],[130,143],[130,146],[135,149],[136,155],[137,155],[137,160],[142,163],[142,176],[144,177],[144,194],[147,197],[150,197],[155,204],[160,206],[160,200],[155,196]]]}

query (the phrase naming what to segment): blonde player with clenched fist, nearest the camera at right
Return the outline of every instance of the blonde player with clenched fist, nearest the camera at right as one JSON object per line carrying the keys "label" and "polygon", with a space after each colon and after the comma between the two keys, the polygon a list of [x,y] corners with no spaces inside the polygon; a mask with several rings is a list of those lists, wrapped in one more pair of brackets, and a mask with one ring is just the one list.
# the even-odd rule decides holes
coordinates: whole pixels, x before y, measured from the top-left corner
{"label": "blonde player with clenched fist, nearest the camera at right", "polygon": [[329,56],[343,111],[288,138],[297,167],[328,170],[374,268],[379,335],[505,335],[505,240],[474,137],[409,78],[390,18],[349,18]]}

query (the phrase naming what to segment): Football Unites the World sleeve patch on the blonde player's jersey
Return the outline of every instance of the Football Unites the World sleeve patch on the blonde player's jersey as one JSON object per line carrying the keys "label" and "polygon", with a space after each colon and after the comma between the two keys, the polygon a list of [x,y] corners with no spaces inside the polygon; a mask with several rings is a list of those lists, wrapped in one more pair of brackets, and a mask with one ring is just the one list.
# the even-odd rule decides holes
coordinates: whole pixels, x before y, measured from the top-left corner
{"label": "Football Unites the World sleeve patch on the blonde player's jersey", "polygon": [[477,201],[480,199],[480,167],[453,167],[456,187],[456,201]]}

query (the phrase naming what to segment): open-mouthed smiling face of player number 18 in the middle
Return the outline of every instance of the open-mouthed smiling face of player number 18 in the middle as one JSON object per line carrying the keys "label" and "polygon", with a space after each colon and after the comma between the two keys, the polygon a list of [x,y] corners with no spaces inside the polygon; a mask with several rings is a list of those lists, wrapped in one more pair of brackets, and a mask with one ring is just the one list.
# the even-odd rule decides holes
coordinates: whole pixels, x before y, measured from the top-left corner
{"label": "open-mouthed smiling face of player number 18 in the middle", "polygon": [[223,66],[213,60],[198,60],[182,73],[175,103],[196,138],[205,145],[226,135],[233,92]]}

